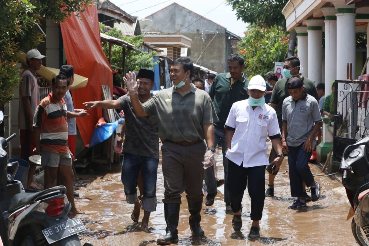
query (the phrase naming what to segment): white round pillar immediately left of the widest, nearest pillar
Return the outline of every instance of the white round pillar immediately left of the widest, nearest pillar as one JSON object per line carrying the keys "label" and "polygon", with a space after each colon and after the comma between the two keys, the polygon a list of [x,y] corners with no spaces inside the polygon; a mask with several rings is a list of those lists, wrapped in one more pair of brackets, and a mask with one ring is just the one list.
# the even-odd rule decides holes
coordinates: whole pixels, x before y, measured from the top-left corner
{"label": "white round pillar immediately left of the widest, nearest pillar", "polygon": [[325,55],[324,55],[324,83],[325,95],[332,93],[331,83],[336,79],[337,60],[337,16],[333,7],[320,9],[325,17]]}

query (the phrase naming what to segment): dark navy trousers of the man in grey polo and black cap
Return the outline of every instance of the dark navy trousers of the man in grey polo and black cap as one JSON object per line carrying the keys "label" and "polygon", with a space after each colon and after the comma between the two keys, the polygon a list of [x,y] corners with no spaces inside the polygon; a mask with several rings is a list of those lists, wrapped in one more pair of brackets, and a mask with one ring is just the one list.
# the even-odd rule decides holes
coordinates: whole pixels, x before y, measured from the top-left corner
{"label": "dark navy trousers of the man in grey polo and black cap", "polygon": [[292,197],[302,197],[302,182],[305,182],[306,187],[310,187],[311,183],[314,182],[308,164],[312,152],[306,152],[303,144],[296,147],[288,146],[288,150],[291,195]]}

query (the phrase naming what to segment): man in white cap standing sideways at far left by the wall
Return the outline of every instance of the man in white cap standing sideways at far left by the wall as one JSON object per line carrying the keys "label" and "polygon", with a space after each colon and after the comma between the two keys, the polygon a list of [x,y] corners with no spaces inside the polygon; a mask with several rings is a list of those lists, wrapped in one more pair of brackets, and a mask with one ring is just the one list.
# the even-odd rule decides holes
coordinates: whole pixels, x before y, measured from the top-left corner
{"label": "man in white cap standing sideways at far left by the wall", "polygon": [[[21,75],[19,84],[19,110],[18,110],[18,128],[20,129],[21,139],[21,159],[26,160],[33,155],[33,150],[36,147],[32,136],[32,123],[35,110],[40,102],[38,76],[36,71],[41,68],[42,60],[46,56],[41,55],[37,49],[31,49],[27,52],[27,68]],[[33,181],[33,174],[36,166],[31,164],[28,171],[29,188],[40,189],[39,185]]]}

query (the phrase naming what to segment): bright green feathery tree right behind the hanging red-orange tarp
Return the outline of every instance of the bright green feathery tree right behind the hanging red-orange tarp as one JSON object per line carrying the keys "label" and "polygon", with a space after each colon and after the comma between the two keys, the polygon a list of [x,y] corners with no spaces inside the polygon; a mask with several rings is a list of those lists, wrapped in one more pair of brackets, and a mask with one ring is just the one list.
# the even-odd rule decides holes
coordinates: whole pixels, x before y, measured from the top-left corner
{"label": "bright green feathery tree right behind the hanging red-orange tarp", "polygon": [[[106,35],[109,35],[114,38],[120,38],[130,44],[133,44],[135,46],[135,49],[138,49],[141,51],[141,53],[137,53],[136,51],[130,51],[128,55],[125,56],[125,71],[138,71],[140,68],[144,69],[152,69],[155,67],[160,61],[154,62],[154,56],[156,55],[156,52],[153,51],[151,53],[144,52],[143,49],[143,37],[144,35],[139,36],[125,36],[122,34],[120,30],[117,28],[111,28],[110,30],[106,30],[106,27],[104,24],[100,23],[100,32],[104,33]],[[108,44],[103,45],[103,51],[106,55],[106,57],[109,56],[109,46]],[[123,48],[118,45],[113,45],[111,48],[111,64],[117,67],[121,67],[122,65],[122,54]],[[118,74],[117,79],[119,81],[123,80],[123,76]]]}

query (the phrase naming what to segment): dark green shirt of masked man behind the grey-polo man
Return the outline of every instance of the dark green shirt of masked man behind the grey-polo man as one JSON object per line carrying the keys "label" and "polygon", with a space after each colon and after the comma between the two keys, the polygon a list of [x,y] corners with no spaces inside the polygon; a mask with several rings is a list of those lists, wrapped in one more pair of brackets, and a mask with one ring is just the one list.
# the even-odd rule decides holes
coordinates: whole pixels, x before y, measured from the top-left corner
{"label": "dark green shirt of masked man behind the grey-polo man", "polygon": [[[304,77],[302,74],[300,74],[300,78],[302,79],[302,82],[305,85],[305,92],[309,94],[310,96],[315,97],[315,99],[318,101],[318,91],[317,88],[314,85],[314,82],[307,77]],[[290,94],[288,93],[287,88],[287,78],[283,78],[277,81],[277,83],[274,86],[272,97],[270,98],[270,103],[277,104],[276,113],[278,117],[278,123],[279,127],[282,128],[282,105],[283,100],[289,97]]]}

